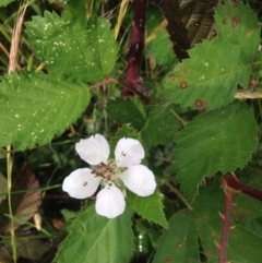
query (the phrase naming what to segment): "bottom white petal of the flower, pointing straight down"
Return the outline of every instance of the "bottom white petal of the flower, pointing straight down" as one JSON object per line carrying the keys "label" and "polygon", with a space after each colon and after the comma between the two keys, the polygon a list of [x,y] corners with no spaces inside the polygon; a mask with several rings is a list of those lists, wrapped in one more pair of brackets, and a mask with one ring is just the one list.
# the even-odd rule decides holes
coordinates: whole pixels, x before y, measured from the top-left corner
{"label": "bottom white petal of the flower, pointing straight down", "polygon": [[108,218],[115,218],[124,211],[123,193],[115,184],[107,184],[96,196],[96,213]]}

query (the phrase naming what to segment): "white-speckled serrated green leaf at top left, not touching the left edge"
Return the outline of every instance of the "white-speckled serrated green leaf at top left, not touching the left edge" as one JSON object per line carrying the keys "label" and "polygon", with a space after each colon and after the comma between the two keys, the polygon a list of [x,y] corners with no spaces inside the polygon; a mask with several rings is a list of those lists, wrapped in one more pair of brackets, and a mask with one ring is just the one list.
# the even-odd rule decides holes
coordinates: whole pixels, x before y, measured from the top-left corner
{"label": "white-speckled serrated green leaf at top left, not touching the left edge", "polygon": [[29,44],[50,72],[83,82],[97,82],[115,67],[118,47],[104,19],[87,27],[69,12],[45,12],[26,23]]}

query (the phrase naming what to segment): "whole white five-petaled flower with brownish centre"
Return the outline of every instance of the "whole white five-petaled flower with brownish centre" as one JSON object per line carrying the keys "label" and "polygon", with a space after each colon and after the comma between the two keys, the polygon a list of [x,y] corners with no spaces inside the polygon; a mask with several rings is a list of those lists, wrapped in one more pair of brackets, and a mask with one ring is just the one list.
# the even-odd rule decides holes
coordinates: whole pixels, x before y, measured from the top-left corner
{"label": "whole white five-petaled flower with brownish centre", "polygon": [[104,188],[96,196],[96,213],[114,218],[123,213],[126,201],[122,183],[140,196],[148,196],[156,188],[153,172],[141,165],[144,148],[138,140],[123,138],[118,141],[115,160],[108,160],[109,144],[96,134],[75,144],[80,157],[96,169],[78,169],[66,177],[62,189],[70,196],[86,199],[92,196],[99,184]]}

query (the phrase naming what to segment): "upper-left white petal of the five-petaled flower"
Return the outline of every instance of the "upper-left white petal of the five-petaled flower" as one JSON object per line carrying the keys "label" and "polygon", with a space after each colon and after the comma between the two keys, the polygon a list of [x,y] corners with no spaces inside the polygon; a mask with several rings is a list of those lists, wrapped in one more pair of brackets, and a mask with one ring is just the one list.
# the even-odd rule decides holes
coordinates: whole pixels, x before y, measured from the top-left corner
{"label": "upper-left white petal of the five-petaled flower", "polygon": [[107,140],[100,134],[80,140],[75,144],[75,150],[80,157],[90,165],[98,165],[100,162],[106,164],[110,153]]}

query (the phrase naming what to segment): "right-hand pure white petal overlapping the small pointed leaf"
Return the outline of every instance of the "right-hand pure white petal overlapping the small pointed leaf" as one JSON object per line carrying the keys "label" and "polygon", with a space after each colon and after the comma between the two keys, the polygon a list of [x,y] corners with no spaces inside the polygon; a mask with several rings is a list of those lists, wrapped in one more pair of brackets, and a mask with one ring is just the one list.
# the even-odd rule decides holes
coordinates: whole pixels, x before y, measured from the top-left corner
{"label": "right-hand pure white petal overlapping the small pointed leaf", "polygon": [[118,177],[130,191],[140,196],[148,196],[156,189],[154,174],[143,165],[130,166]]}

